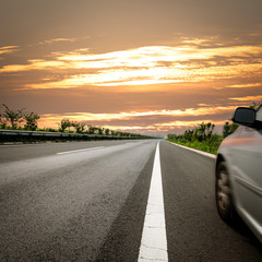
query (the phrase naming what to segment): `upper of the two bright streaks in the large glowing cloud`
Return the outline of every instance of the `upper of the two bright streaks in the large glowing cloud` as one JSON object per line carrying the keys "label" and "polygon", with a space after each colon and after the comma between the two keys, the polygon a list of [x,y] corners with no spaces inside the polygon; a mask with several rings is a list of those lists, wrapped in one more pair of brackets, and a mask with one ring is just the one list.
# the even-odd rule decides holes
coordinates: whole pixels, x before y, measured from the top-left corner
{"label": "upper of the two bright streaks in the large glowing cloud", "polygon": [[[203,39],[204,41],[204,39]],[[82,49],[83,50],[83,49]],[[84,49],[86,50],[86,49]],[[159,61],[178,62],[194,59],[212,59],[215,57],[249,57],[262,52],[262,46],[231,46],[215,48],[199,48],[196,46],[183,45],[177,47],[170,46],[147,46],[136,49],[114,51],[100,55],[81,53],[74,51],[60,56],[59,60],[68,61],[87,61],[90,67],[152,67],[157,66]]]}

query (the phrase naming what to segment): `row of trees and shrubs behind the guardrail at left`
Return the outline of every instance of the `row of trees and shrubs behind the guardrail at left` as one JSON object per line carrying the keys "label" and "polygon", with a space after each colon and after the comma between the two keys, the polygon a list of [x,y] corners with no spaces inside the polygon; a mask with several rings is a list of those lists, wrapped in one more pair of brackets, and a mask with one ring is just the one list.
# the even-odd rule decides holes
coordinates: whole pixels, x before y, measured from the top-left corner
{"label": "row of trees and shrubs behind the guardrail at left", "polygon": [[71,121],[63,118],[58,124],[57,129],[38,128],[37,121],[40,116],[33,111],[23,109],[10,109],[5,104],[0,106],[0,129],[5,130],[26,130],[26,131],[41,131],[41,132],[63,132],[63,133],[81,133],[81,134],[99,134],[114,135],[122,138],[144,138],[145,135],[136,133],[128,133],[110,130],[108,128],[85,124],[83,122]]}

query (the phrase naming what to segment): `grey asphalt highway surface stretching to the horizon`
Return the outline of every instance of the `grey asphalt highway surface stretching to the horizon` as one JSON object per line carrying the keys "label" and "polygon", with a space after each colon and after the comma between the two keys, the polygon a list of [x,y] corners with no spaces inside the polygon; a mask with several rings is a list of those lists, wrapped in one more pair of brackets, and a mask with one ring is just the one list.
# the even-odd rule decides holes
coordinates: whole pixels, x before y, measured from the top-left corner
{"label": "grey asphalt highway surface stretching to the horizon", "polygon": [[[262,261],[247,226],[219,218],[214,165],[163,140],[0,145],[0,261]],[[153,174],[166,247],[145,258]]]}

